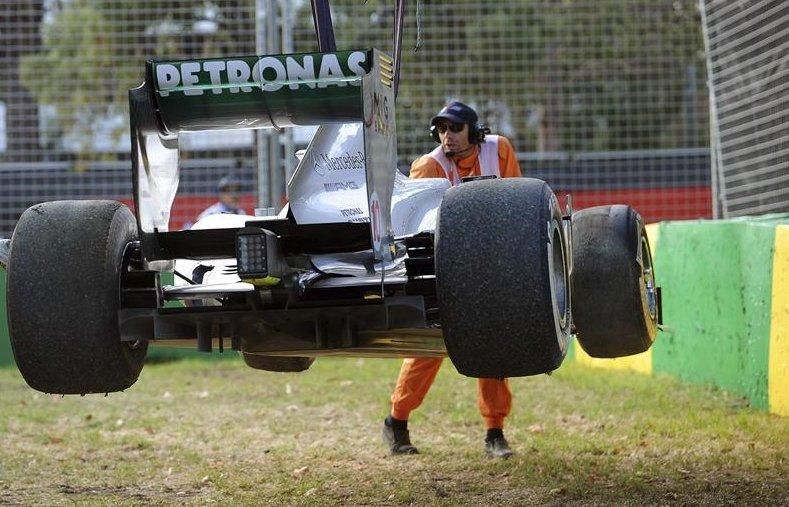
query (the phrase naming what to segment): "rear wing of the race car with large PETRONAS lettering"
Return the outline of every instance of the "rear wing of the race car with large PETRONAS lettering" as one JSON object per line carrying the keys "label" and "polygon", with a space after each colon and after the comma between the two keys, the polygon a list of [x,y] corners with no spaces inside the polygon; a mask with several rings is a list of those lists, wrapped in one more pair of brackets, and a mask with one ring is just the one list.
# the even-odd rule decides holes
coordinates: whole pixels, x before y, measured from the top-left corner
{"label": "rear wing of the race car with large PETRONAS lettering", "polygon": [[[396,168],[392,59],[376,49],[148,61],[129,91],[137,225],[146,257],[167,233],[179,180],[178,135],[360,123],[370,239],[393,246]],[[155,257],[155,256],[154,256]]]}

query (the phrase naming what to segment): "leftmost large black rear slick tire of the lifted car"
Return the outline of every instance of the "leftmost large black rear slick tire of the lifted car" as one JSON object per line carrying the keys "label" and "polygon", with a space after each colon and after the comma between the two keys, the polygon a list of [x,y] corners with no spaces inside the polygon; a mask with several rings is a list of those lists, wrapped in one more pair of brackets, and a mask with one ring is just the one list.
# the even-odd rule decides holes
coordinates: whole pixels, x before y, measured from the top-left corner
{"label": "leftmost large black rear slick tire of the lifted car", "polygon": [[8,263],[8,329],[33,389],[54,394],[122,391],[140,375],[147,341],[122,342],[120,280],[137,239],[115,201],[36,204],[19,219]]}

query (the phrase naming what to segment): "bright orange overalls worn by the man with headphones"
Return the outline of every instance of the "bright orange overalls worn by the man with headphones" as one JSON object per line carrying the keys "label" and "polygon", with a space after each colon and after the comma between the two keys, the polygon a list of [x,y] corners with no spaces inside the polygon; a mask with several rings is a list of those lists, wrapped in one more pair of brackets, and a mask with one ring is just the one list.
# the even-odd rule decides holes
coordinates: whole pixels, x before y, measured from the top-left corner
{"label": "bright orange overalls worn by the man with headphones", "polygon": [[[499,173],[502,178],[520,177],[521,170],[515,150],[507,138],[498,138]],[[461,178],[481,174],[479,149],[475,148],[467,157],[455,161]],[[423,155],[411,164],[411,178],[446,178],[441,165],[429,155]],[[441,367],[441,358],[421,357],[406,359],[400,368],[397,385],[392,392],[392,412],[395,419],[408,420],[411,411],[425,399],[427,391]],[[485,419],[486,429],[504,428],[504,418],[512,407],[507,379],[481,378],[477,383],[477,403]]]}

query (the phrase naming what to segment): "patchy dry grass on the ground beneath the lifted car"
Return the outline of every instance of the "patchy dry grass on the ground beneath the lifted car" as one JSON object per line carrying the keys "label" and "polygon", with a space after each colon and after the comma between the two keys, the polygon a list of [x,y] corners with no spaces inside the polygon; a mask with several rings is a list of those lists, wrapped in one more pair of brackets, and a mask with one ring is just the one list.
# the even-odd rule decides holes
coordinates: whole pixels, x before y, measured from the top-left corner
{"label": "patchy dry grass on the ground beneath the lifted car", "polygon": [[399,361],[147,365],[125,393],[55,397],[0,370],[0,504],[573,505],[789,503],[789,420],[718,390],[575,364],[511,380],[490,460],[476,386],[446,361],[412,415],[380,425]]}

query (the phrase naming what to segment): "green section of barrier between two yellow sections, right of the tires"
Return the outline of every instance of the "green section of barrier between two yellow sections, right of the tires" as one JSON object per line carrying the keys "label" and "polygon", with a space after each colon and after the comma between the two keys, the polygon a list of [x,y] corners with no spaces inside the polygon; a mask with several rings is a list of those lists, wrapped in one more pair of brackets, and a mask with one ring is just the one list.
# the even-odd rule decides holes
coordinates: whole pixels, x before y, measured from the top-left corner
{"label": "green section of barrier between two yellow sections, right of the tires", "polygon": [[666,223],[655,256],[671,332],[653,371],[712,383],[767,408],[775,227],[751,222]]}

